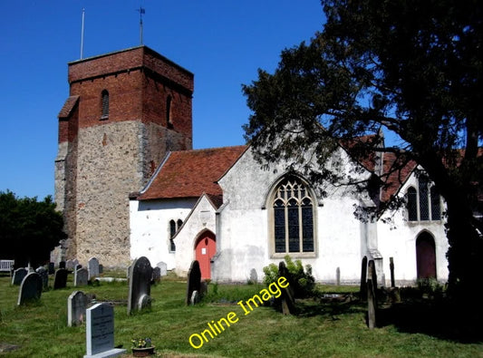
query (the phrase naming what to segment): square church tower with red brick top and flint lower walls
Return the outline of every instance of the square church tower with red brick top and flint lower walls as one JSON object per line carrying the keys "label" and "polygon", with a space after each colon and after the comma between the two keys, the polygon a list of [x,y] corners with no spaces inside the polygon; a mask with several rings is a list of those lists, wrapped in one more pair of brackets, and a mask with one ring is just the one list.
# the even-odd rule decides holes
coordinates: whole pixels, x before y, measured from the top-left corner
{"label": "square church tower with red brick top and flint lower walls", "polygon": [[129,193],[167,151],[192,147],[193,74],[139,46],[69,63],[68,79],[55,159],[60,256],[127,266]]}

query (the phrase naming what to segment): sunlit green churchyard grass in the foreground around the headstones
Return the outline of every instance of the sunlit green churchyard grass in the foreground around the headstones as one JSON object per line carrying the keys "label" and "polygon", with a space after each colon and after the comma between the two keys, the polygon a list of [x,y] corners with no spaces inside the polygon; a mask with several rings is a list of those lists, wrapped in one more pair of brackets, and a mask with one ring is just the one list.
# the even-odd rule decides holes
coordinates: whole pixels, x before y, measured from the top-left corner
{"label": "sunlit green churchyard grass in the foreground around the headstones", "polygon": [[[112,276],[106,273],[105,276]],[[119,276],[119,275],[118,275]],[[52,285],[52,277],[50,280]],[[263,285],[208,285],[208,296],[199,305],[186,306],[186,279],[163,277],[151,287],[150,310],[127,315],[126,283],[101,282],[80,290],[97,301],[113,301],[115,345],[130,357],[130,340],[150,337],[157,356],[164,357],[483,357],[483,343],[461,343],[437,334],[407,333],[393,324],[369,330],[365,306],[301,303],[300,313],[284,316],[271,307],[257,307],[243,315],[237,301],[257,294]],[[77,290],[69,275],[67,288],[43,292],[39,303],[16,306],[18,286],[0,276],[0,352],[8,344],[18,349],[8,357],[82,357],[86,352],[85,324],[67,326],[67,297]],[[357,287],[319,286],[324,292],[356,292]],[[239,321],[199,349],[188,343],[211,320],[235,312]],[[479,327],[480,328],[480,327]],[[417,331],[417,330],[416,330]]]}

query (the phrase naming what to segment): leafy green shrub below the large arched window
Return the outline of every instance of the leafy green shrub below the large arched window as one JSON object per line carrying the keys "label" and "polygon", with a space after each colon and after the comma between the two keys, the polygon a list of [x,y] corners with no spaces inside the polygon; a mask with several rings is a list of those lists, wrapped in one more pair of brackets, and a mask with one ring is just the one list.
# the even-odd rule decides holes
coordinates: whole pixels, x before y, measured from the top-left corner
{"label": "leafy green shrub below the large arched window", "polygon": [[[314,295],[315,279],[312,276],[312,266],[302,265],[301,260],[293,261],[288,255],[285,255],[285,266],[290,274],[291,284],[294,285],[295,297],[310,297]],[[263,268],[264,284],[270,285],[278,279],[278,266],[270,264]],[[288,277],[287,277],[288,278]]]}

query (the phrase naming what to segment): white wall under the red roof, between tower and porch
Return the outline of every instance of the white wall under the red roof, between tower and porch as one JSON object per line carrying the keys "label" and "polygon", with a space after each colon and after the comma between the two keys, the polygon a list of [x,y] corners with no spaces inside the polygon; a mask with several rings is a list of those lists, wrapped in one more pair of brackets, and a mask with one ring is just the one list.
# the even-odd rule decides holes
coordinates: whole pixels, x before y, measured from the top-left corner
{"label": "white wall under the red roof, between tower and porch", "polygon": [[146,256],[151,266],[163,261],[169,270],[174,269],[175,253],[169,251],[169,220],[184,221],[195,202],[195,199],[130,200],[130,259]]}

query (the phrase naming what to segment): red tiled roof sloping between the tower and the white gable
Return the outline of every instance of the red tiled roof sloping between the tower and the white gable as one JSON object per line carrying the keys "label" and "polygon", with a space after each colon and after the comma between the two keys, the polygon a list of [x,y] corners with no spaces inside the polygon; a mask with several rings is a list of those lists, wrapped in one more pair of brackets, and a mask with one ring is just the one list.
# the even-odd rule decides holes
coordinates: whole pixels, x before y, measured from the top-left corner
{"label": "red tiled roof sloping between the tower and the white gable", "polygon": [[139,200],[199,198],[206,193],[215,205],[223,195],[217,183],[246,150],[246,146],[173,151]]}

